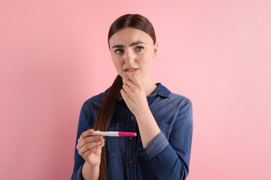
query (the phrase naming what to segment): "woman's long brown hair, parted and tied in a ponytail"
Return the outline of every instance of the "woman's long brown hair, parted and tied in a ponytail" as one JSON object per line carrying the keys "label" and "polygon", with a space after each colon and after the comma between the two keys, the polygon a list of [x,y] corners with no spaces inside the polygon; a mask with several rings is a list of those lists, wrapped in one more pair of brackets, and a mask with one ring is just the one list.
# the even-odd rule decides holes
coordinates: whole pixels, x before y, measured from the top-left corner
{"label": "woman's long brown hair, parted and tied in a ponytail", "polygon": [[[138,30],[142,30],[143,32],[147,33],[151,39],[154,40],[154,44],[156,44],[156,35],[154,32],[154,27],[152,26],[149,19],[143,17],[142,15],[123,15],[117,18],[113,24],[109,28],[108,32],[108,46],[109,39],[118,31],[124,28],[136,28]],[[110,121],[113,117],[115,112],[115,107],[117,105],[117,99],[120,96],[120,89],[122,89],[122,77],[117,75],[115,78],[112,86],[110,87],[104,101],[101,103],[101,107],[97,114],[97,118],[95,121],[95,125],[93,129],[100,130],[100,131],[107,131]],[[99,170],[99,180],[106,180],[107,179],[107,159],[106,159],[106,146],[103,147],[101,150],[101,164]]]}

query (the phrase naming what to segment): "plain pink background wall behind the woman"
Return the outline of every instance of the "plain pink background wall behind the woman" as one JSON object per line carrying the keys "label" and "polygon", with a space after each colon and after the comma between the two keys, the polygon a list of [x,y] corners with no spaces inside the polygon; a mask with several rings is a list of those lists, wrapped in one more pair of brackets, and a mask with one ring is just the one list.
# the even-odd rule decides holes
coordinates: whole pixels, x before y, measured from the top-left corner
{"label": "plain pink background wall behind the woman", "polygon": [[271,3],[1,1],[0,179],[70,179],[79,111],[117,75],[113,20],[154,24],[156,82],[193,102],[188,180],[271,179]]}

